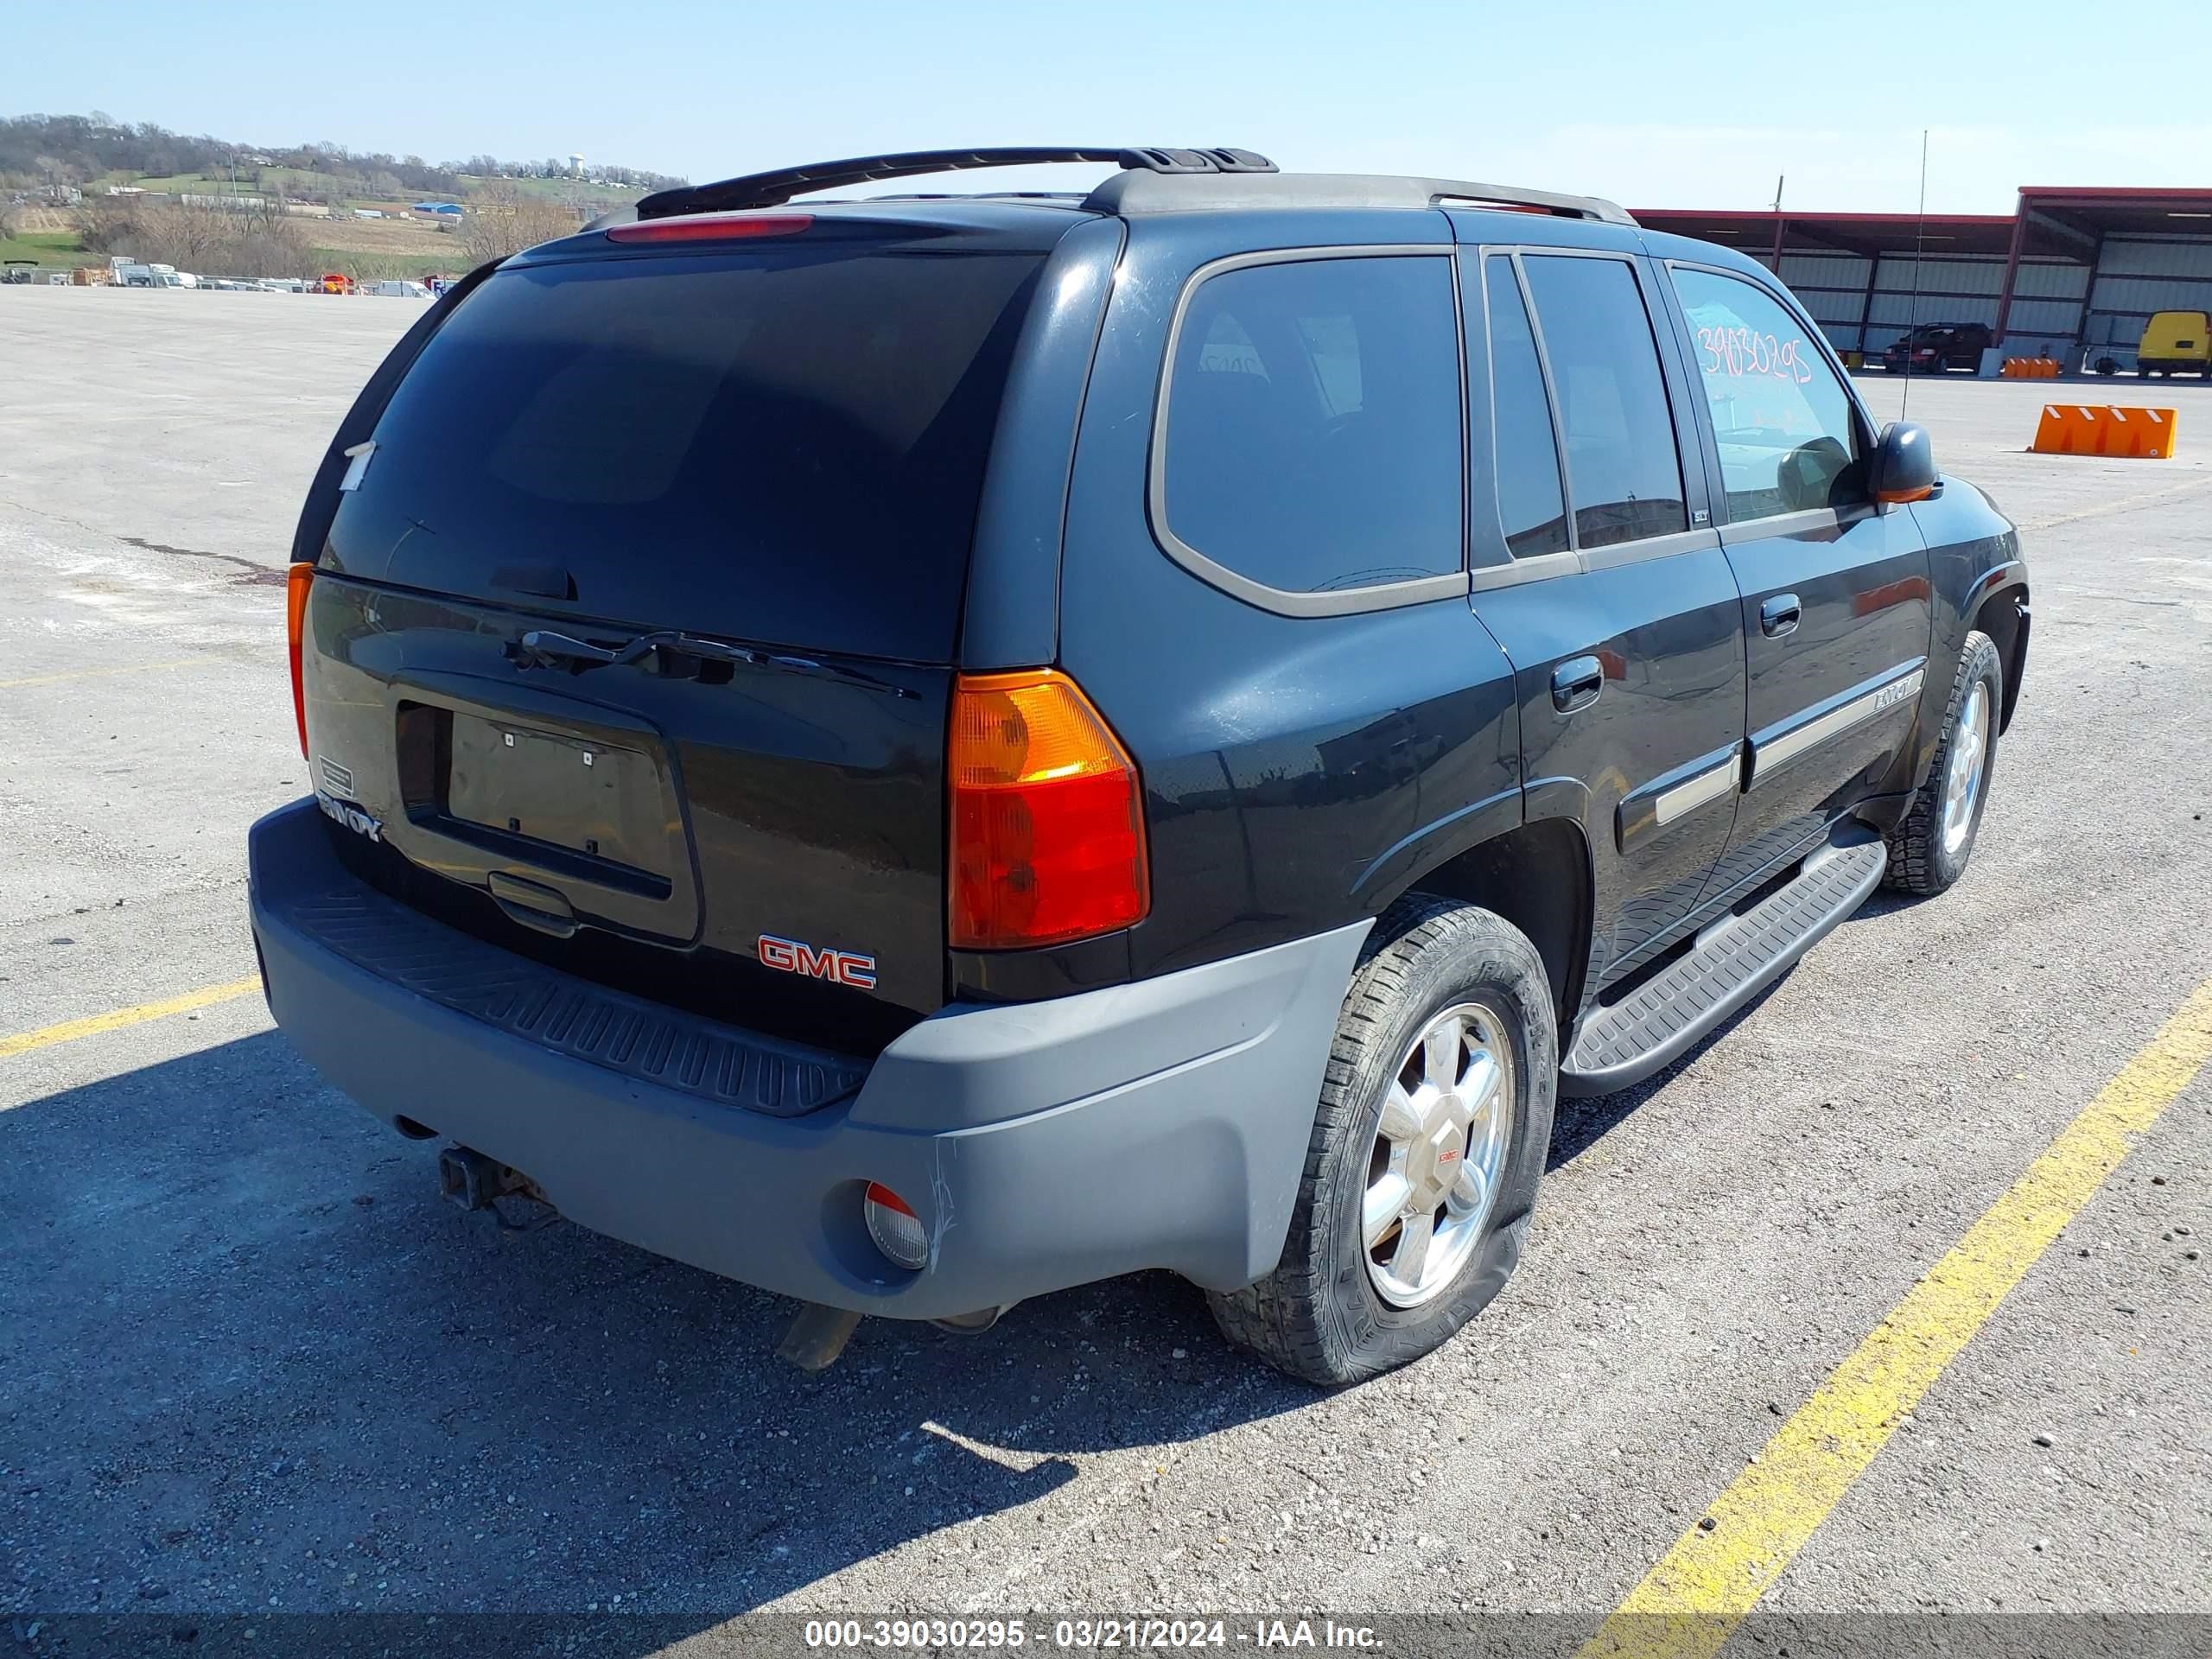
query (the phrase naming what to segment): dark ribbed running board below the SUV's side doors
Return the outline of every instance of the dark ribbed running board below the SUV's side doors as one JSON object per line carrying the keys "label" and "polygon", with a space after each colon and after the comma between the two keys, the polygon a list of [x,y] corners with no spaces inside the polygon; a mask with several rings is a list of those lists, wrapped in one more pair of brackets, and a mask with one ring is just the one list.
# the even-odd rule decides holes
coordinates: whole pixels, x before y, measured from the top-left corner
{"label": "dark ribbed running board below the SUV's side doors", "polygon": [[1827,845],[1787,887],[1699,933],[1663,973],[1610,1009],[1590,1009],[1568,1042],[1559,1093],[1610,1095],[1679,1060],[1858,909],[1887,863],[1880,841]]}

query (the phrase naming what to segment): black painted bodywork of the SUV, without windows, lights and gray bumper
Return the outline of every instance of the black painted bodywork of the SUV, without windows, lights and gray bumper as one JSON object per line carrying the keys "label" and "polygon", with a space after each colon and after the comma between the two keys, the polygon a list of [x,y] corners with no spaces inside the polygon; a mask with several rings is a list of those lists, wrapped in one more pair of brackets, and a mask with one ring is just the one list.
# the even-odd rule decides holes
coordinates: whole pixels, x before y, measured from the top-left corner
{"label": "black painted bodywork of the SUV, without windows, lights and gray bumper", "polygon": [[[717,1018],[867,1051],[949,998],[1055,998],[1343,927],[1440,878],[1460,854],[1551,818],[1573,825],[1588,858],[1586,891],[1557,896],[1586,905],[1584,960],[1564,975],[1586,1004],[1785,867],[1834,821],[1856,814],[1887,827],[1927,774],[1966,628],[1982,606],[2024,595],[2013,526],[1958,480],[1929,502],[1847,509],[1825,526],[1725,524],[1714,440],[1663,261],[1765,285],[1798,312],[1832,365],[1834,354],[1763,268],[1710,243],[1458,208],[1128,221],[1042,206],[880,204],[867,212],[938,215],[951,226],[945,234],[1048,250],[984,476],[953,666],[1051,664],[1084,686],[1144,774],[1146,920],[1046,951],[947,951],[942,745],[953,666],[847,664],[878,677],[878,688],[770,668],[739,668],[730,684],[639,670],[522,672],[504,655],[531,622],[522,608],[325,575],[310,608],[319,754],[392,754],[396,699],[445,697],[458,708],[462,681],[487,706],[515,699],[518,719],[529,712],[524,695],[560,695],[588,703],[566,710],[571,732],[599,721],[608,728],[599,741],[615,741],[624,723],[635,728],[641,759],[630,770],[666,785],[668,812],[681,818],[679,827],[668,818],[668,841],[648,845],[650,856],[617,860],[664,878],[668,891],[617,891],[619,880],[595,883],[588,867],[564,874],[529,845],[440,841],[420,814],[409,816],[396,770],[380,776],[372,759],[356,768],[358,801],[396,834],[387,847],[332,834],[349,860],[380,872],[387,891],[467,914],[473,931],[551,953],[568,971],[617,984],[653,978],[657,993]],[[591,257],[584,241],[562,243],[560,257]],[[1168,330],[1192,274],[1210,261],[1358,246],[1460,261],[1462,376],[1473,389],[1464,522],[1475,582],[1471,593],[1398,608],[1283,615],[1177,562],[1150,518]],[[1697,526],[1661,557],[1630,553],[1498,584],[1509,555],[1482,392],[1486,336],[1469,294],[1480,290],[1482,250],[1513,246],[1621,254],[1639,272],[1659,323]],[[396,358],[418,343],[411,336]],[[389,394],[394,378],[380,374],[365,405]],[[1871,436],[1871,418],[1858,414]],[[365,429],[356,409],[341,436]],[[334,478],[325,462],[301,546],[321,549],[312,520],[325,513],[327,526]],[[1801,599],[1803,622],[1787,639],[1770,639],[1761,606],[1781,593]],[[1579,657],[1601,664],[1604,688],[1593,706],[1562,714],[1553,670]],[[1661,821],[1670,790],[1741,765],[1761,734],[1790,730],[1916,661],[1924,670],[1918,699],[1885,706],[1880,719],[1814,748],[1770,783],[1730,785]],[[440,675],[449,679],[422,688]],[[2015,692],[2008,686],[2008,703]],[[540,708],[555,726],[557,712]],[[577,845],[564,852],[582,856]],[[504,865],[502,849],[515,854]],[[495,865],[560,885],[584,929],[551,940],[515,925],[484,891]],[[869,951],[878,982],[854,989],[774,975],[752,960],[761,931]],[[1577,1013],[1559,1009],[1562,1022]]]}

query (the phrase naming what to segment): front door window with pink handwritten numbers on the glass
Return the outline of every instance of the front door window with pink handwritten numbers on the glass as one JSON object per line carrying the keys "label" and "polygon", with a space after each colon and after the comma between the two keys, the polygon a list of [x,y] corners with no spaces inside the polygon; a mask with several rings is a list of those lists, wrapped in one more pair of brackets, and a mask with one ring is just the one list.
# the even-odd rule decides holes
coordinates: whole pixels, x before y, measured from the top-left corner
{"label": "front door window with pink handwritten numbers on the glass", "polygon": [[1772,294],[1736,276],[1677,270],[1674,292],[1721,449],[1728,518],[1840,507],[1856,495],[1851,396]]}

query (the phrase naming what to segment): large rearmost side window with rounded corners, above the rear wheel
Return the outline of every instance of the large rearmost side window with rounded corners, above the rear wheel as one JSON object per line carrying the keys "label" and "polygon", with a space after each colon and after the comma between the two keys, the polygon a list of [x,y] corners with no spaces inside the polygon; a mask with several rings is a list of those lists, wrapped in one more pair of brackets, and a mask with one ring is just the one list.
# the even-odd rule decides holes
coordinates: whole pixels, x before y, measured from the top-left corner
{"label": "large rearmost side window with rounded corners, above the rear wheel", "polygon": [[1168,538],[1287,593],[1460,571],[1451,261],[1303,259],[1203,281],[1168,376]]}

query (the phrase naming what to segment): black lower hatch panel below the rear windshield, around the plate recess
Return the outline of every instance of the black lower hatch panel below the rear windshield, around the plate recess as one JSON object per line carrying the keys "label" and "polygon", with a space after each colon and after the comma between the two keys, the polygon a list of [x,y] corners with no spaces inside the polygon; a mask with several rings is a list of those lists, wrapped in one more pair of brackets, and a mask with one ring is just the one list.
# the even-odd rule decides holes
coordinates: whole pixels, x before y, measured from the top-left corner
{"label": "black lower hatch panel below the rear windshield, around the plate recess", "polygon": [[[661,1000],[841,1051],[872,1051],[945,1002],[945,710],[949,668],[869,664],[883,686],[739,666],[721,684],[644,666],[568,675],[520,668],[509,646],[542,619],[400,593],[334,573],[307,604],[307,743],[380,823],[349,854],[385,891],[606,984],[657,982]],[[469,823],[438,801],[416,710],[489,719],[522,748],[622,748],[659,825],[650,872],[582,852],[582,830]],[[577,768],[582,776],[582,768]],[[588,814],[580,787],[575,810]],[[588,823],[584,816],[580,823]],[[343,830],[332,827],[345,838]],[[398,854],[400,869],[392,858]],[[493,874],[551,887],[584,922],[544,938],[491,898]],[[637,874],[664,876],[646,891]],[[431,891],[438,891],[436,887]],[[759,936],[876,958],[874,991],[770,971]]]}

